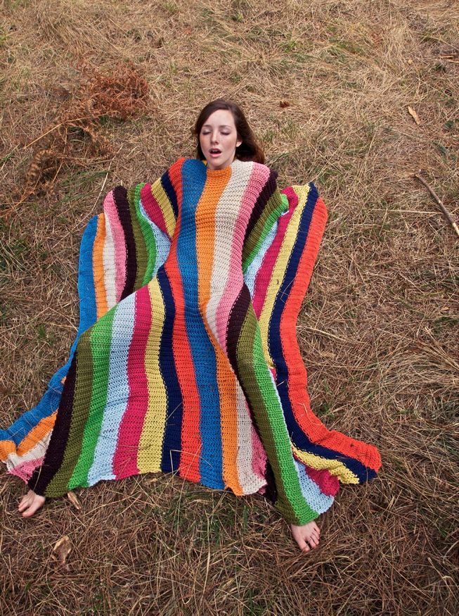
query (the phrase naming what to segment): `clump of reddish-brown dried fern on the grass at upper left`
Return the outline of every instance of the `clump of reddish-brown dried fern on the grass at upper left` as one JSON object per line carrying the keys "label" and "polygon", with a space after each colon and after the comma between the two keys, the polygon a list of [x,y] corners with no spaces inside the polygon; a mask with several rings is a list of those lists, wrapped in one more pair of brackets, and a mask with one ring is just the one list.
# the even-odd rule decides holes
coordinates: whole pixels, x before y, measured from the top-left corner
{"label": "clump of reddish-brown dried fern on the grass at upper left", "polygon": [[21,201],[35,191],[50,191],[63,165],[88,167],[99,156],[113,154],[103,134],[108,119],[127,120],[144,111],[148,83],[132,66],[119,65],[109,74],[86,66],[75,92],[60,88],[64,100],[43,134],[27,147],[34,153],[25,174]]}

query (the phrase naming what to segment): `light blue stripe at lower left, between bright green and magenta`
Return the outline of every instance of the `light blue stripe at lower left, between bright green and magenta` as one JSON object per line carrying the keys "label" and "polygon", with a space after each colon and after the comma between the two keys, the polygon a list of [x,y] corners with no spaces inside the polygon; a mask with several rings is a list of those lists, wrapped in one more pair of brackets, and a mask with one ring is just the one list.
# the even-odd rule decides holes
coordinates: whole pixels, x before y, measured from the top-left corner
{"label": "light blue stripe at lower left, between bright green and magenta", "polygon": [[119,425],[126,412],[129,397],[127,358],[134,332],[135,308],[136,294],[133,293],[117,305],[113,318],[107,403],[103,411],[94,460],[88,473],[90,486],[101,479],[115,479],[112,461],[118,443]]}

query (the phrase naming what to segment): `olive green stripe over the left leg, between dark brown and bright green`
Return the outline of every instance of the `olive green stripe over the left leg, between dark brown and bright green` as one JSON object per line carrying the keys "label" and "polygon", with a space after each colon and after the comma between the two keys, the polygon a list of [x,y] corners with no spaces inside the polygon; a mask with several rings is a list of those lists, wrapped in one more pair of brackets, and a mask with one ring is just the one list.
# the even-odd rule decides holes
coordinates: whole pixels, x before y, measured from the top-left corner
{"label": "olive green stripe over the left leg, between dark brown and bright green", "polygon": [[72,405],[72,420],[65,444],[63,463],[46,488],[46,496],[61,496],[68,490],[79,454],[82,451],[83,432],[91,405],[93,379],[93,362],[91,355],[91,329],[79,338],[77,344],[77,374],[75,377],[75,395]]}

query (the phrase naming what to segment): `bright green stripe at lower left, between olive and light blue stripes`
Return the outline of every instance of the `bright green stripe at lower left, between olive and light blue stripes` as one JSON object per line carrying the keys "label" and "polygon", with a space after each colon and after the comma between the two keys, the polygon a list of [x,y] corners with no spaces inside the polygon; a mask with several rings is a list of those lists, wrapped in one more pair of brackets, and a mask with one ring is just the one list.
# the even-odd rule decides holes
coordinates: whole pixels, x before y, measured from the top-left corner
{"label": "bright green stripe at lower left, between olive and light blue stripes", "polygon": [[84,426],[82,453],[70,479],[70,489],[76,486],[89,486],[88,473],[94,460],[107,403],[112,324],[116,308],[117,306],[109,310],[92,328],[91,353],[96,376],[93,378],[89,417]]}

